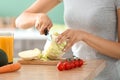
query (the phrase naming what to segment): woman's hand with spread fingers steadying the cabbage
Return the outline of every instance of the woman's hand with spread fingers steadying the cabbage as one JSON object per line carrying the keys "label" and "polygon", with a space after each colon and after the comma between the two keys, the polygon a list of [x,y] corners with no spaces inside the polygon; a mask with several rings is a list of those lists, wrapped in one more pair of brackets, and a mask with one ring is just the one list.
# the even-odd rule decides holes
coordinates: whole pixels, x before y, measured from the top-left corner
{"label": "woman's hand with spread fingers steadying the cabbage", "polygon": [[83,40],[84,34],[85,32],[81,30],[67,29],[58,36],[56,42],[59,44],[63,41],[67,41],[67,45],[63,49],[63,51],[66,52],[72,47],[74,43]]}

